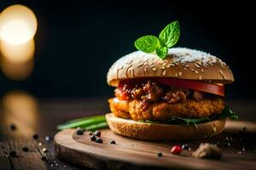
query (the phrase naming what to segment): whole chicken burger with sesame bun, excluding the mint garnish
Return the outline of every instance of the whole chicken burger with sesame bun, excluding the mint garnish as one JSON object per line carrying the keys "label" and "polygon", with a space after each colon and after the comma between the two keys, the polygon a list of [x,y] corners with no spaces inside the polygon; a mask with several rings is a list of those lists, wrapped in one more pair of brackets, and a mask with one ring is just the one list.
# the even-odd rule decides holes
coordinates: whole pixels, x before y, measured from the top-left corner
{"label": "whole chicken burger with sesame bun, excluding the mint garnish", "polygon": [[230,67],[216,56],[169,48],[165,59],[136,51],[109,69],[106,115],[114,133],[134,139],[200,139],[221,133],[230,110],[224,85],[234,82]]}

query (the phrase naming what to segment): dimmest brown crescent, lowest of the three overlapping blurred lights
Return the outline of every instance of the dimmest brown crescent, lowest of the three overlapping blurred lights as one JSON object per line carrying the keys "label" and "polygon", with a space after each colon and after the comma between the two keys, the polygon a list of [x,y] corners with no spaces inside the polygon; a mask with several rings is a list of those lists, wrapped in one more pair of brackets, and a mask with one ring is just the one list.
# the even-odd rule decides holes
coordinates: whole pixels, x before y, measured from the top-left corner
{"label": "dimmest brown crescent, lowest of the three overlapping blurred lights", "polygon": [[11,80],[22,81],[32,74],[34,68],[34,59],[26,62],[14,62],[8,58],[2,57],[1,68],[3,74]]}

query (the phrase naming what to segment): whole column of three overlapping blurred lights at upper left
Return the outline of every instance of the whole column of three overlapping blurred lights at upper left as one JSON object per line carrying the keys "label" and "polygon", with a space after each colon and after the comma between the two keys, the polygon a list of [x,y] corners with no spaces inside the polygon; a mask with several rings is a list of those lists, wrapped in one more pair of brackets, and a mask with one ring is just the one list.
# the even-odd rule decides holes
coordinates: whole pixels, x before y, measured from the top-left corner
{"label": "whole column of three overlapping blurred lights at upper left", "polygon": [[24,5],[12,5],[0,14],[0,53],[3,74],[11,80],[25,80],[34,68],[34,35],[38,22]]}

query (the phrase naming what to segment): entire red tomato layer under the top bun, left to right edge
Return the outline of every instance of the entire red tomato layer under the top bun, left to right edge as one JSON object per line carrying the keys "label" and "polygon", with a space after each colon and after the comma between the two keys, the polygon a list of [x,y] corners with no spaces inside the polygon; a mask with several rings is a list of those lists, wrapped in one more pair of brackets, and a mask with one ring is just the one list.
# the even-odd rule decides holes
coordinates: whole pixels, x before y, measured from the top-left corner
{"label": "entire red tomato layer under the top bun, left to right edge", "polygon": [[133,88],[136,84],[141,84],[147,82],[147,80],[153,80],[164,84],[166,86],[174,86],[177,88],[188,88],[193,90],[198,90],[201,92],[206,92],[209,94],[217,94],[224,96],[224,85],[223,84],[213,84],[207,82],[195,82],[190,80],[178,79],[178,78],[164,78],[164,77],[151,77],[151,78],[137,78],[128,79],[119,82],[119,88],[123,88],[125,84],[129,84],[129,88]]}

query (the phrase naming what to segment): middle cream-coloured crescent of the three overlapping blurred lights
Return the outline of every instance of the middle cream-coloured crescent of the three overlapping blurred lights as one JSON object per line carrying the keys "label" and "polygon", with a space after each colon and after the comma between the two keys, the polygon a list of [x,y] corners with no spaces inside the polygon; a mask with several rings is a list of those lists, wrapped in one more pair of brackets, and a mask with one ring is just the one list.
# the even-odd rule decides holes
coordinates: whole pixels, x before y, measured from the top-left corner
{"label": "middle cream-coloured crescent of the three overlapping blurred lights", "polygon": [[1,41],[0,51],[3,54],[3,57],[9,59],[11,62],[26,62],[27,60],[32,59],[35,53],[35,42],[33,39],[22,44],[10,44]]}

